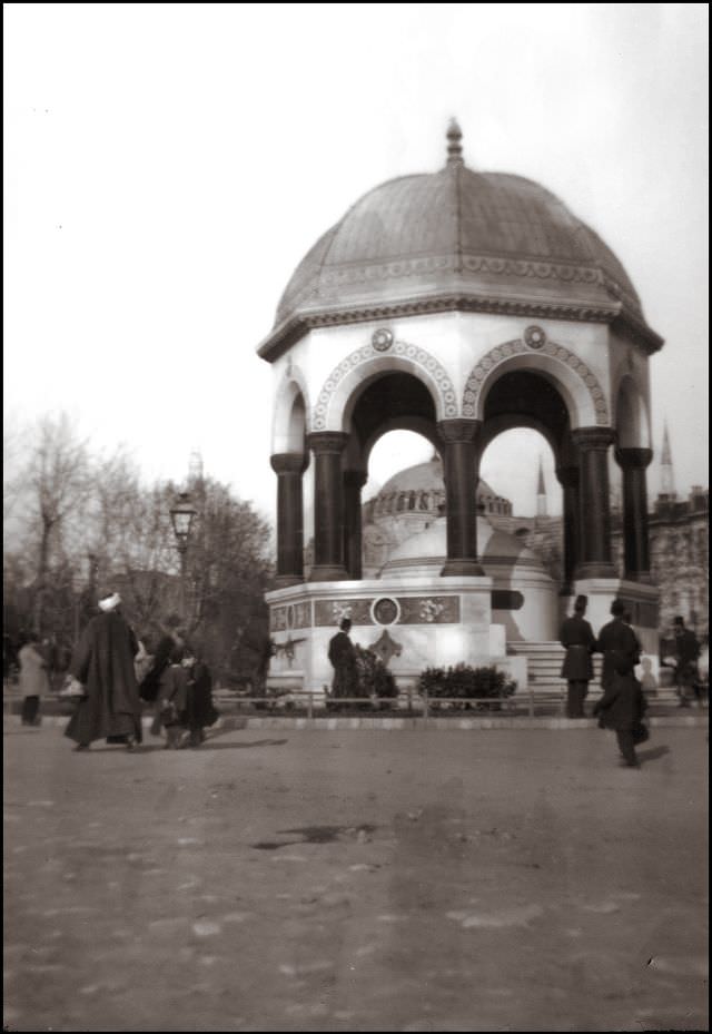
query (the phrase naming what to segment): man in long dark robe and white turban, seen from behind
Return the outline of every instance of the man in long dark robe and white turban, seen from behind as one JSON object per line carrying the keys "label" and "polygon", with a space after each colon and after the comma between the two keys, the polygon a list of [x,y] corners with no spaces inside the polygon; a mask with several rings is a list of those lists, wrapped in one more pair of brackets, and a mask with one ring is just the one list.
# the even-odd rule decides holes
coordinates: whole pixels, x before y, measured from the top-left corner
{"label": "man in long dark robe and white turban, seen from behind", "polygon": [[66,736],[87,750],[96,739],[122,742],[131,749],[141,739],[141,702],[134,658],[138,642],[121,616],[118,592],[100,600],[100,614],[85,629],[70,666],[85,696],[67,726]]}

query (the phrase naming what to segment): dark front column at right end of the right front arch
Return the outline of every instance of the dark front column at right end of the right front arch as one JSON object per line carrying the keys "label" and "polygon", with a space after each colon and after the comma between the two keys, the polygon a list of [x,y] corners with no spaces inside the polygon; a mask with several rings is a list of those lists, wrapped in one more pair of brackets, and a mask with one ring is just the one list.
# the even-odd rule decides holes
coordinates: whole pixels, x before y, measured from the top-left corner
{"label": "dark front column at right end of the right front arch", "polygon": [[580,427],[572,432],[578,450],[578,529],[576,578],[615,578],[611,553],[610,427]]}

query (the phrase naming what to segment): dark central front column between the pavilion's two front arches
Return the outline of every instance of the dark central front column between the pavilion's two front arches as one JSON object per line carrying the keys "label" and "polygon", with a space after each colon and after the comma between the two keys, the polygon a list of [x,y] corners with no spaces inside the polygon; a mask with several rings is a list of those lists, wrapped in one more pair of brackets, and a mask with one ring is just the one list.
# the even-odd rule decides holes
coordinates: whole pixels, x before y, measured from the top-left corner
{"label": "dark central front column between the pavilion's two front arches", "polygon": [[443,420],[437,424],[443,449],[447,519],[447,561],[441,574],[484,575],[477,562],[476,440],[479,420]]}

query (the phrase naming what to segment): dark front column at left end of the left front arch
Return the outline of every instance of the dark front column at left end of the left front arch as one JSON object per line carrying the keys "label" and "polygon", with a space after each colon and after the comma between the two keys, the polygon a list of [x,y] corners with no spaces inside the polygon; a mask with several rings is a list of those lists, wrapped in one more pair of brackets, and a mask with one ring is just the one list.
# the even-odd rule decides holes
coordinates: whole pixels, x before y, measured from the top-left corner
{"label": "dark front column at left end of the left front arch", "polygon": [[340,431],[317,431],[307,435],[314,453],[314,567],[312,581],[343,581],[344,567],[344,479],[342,454],[348,435]]}

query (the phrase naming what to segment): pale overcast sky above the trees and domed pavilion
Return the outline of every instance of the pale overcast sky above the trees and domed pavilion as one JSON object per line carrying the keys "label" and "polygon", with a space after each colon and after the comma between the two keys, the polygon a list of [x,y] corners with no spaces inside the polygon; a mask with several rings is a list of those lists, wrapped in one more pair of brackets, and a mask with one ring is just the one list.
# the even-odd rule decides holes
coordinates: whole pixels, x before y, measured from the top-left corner
{"label": "pale overcast sky above the trees and domed pavilion", "polygon": [[[656,451],[666,420],[678,491],[708,484],[706,4],[6,3],[3,21],[11,421],[68,410],[151,479],[199,449],[271,518],[256,346],[316,238],[441,168],[456,116],[467,165],[537,180],[623,262],[666,341]],[[387,436],[370,473],[428,454]],[[485,455],[520,513],[540,454],[555,511],[534,432]]]}

